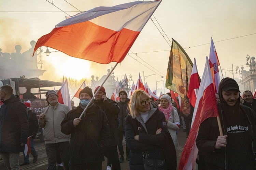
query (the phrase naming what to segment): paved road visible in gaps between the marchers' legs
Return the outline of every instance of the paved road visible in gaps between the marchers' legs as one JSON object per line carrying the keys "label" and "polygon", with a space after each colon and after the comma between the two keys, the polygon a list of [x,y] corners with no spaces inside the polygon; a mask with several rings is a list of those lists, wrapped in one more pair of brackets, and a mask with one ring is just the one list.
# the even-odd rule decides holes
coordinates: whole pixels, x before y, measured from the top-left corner
{"label": "paved road visible in gaps between the marchers' legs", "polygon": [[[179,141],[179,145],[177,146],[177,168],[179,167],[179,162],[180,162],[180,157],[184,148],[184,145],[186,143],[187,138],[185,138],[186,136],[186,132],[183,132],[183,129],[181,128],[178,131],[178,141]],[[125,141],[123,141],[123,144],[125,145]],[[39,139],[35,139],[34,140],[34,146],[35,146],[35,150],[38,153],[38,161],[36,163],[32,163],[33,160],[33,156],[30,154],[29,156],[29,160],[30,160],[30,164],[29,165],[25,165],[25,166],[21,166],[20,170],[25,170],[25,169],[29,169],[29,170],[45,170],[47,168],[47,156],[46,156],[46,152],[45,152],[45,145],[44,142],[40,142]],[[124,147],[125,149],[125,147]],[[125,152],[125,151],[124,151]],[[23,162],[23,153],[20,153],[19,155],[19,163]],[[102,163],[102,170],[106,169],[106,158],[105,161]],[[0,160],[0,169],[1,170],[7,170],[7,168],[3,165],[2,160]],[[125,160],[123,163],[121,163],[121,169],[122,170],[129,170],[129,162],[127,160]]]}

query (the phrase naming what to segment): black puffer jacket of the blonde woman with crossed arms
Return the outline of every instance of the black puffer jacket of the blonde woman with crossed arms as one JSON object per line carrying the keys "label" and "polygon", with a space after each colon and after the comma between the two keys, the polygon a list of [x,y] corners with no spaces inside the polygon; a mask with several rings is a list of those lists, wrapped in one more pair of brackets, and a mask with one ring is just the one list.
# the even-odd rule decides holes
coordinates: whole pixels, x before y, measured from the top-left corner
{"label": "black puffer jacket of the blonde woman with crossed arms", "polygon": [[[156,135],[159,128],[162,131]],[[139,135],[139,140],[134,139],[136,135]],[[128,115],[125,118],[125,139],[130,149],[130,169],[143,170],[142,153],[144,155],[147,153],[148,158],[165,159],[166,169],[176,169],[174,144],[166,126],[165,115],[158,108],[151,108],[145,123],[141,116],[133,119],[131,115]],[[171,145],[167,144],[167,141]]]}

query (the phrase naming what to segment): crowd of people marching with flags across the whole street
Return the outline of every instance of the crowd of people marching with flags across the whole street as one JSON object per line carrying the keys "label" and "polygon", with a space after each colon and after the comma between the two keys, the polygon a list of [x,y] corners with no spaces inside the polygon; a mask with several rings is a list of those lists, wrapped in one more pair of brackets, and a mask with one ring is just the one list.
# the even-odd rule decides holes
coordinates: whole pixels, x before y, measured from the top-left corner
{"label": "crowd of people marching with flags across the whole street", "polygon": [[[94,94],[93,99],[93,91],[85,87],[79,93],[79,105],[72,102],[70,110],[50,90],[48,105],[37,119],[29,101],[24,104],[13,95],[11,86],[1,86],[0,153],[4,165],[11,170],[29,164],[26,153],[19,164],[19,152],[24,152],[28,137],[32,162],[37,162],[33,139],[40,126],[44,128],[48,170],[120,170],[125,159],[131,170],[177,168],[177,130],[183,128],[188,137],[193,108],[189,117],[183,115],[170,93],[154,101],[144,90],[134,91],[131,99],[122,90],[118,103],[106,97],[103,86]],[[196,138],[199,169],[256,169],[256,100],[248,90],[242,96],[235,80],[225,78],[219,84],[215,98],[223,135],[215,117],[201,123]],[[107,167],[102,167],[104,156]]]}

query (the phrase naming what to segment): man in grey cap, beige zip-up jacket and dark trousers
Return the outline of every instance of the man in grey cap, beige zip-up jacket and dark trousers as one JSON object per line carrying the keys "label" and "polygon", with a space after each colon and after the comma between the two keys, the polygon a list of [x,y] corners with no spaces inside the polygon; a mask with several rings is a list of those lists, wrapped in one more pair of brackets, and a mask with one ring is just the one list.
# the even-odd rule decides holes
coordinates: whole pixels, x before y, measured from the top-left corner
{"label": "man in grey cap, beige zip-up jacket and dark trousers", "polygon": [[44,128],[45,149],[48,158],[48,170],[56,169],[56,154],[60,153],[64,168],[69,169],[69,135],[61,132],[61,122],[69,112],[69,107],[58,102],[56,91],[48,91],[46,100],[49,105],[39,116],[38,124]]}

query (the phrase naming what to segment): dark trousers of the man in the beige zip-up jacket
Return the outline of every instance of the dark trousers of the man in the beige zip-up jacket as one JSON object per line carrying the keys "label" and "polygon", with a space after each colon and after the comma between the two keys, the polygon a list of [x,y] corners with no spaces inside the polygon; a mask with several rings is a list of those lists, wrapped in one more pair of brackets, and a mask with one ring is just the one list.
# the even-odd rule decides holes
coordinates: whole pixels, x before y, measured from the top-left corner
{"label": "dark trousers of the man in the beige zip-up jacket", "polygon": [[69,141],[45,144],[46,155],[48,158],[48,170],[56,170],[57,152],[60,153],[63,167],[69,170]]}

